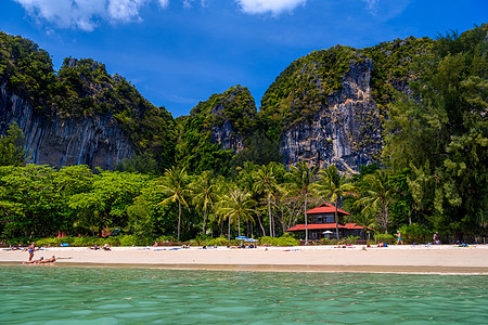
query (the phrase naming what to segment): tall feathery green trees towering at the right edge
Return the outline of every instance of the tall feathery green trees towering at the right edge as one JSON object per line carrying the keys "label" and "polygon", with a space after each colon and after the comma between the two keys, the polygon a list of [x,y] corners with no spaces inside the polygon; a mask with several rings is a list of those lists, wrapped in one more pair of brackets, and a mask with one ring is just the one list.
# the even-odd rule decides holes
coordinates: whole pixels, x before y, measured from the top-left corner
{"label": "tall feathery green trees towering at the right edge", "polygon": [[484,232],[487,202],[488,24],[436,41],[412,95],[389,107],[386,164],[410,168],[415,205],[438,230]]}

